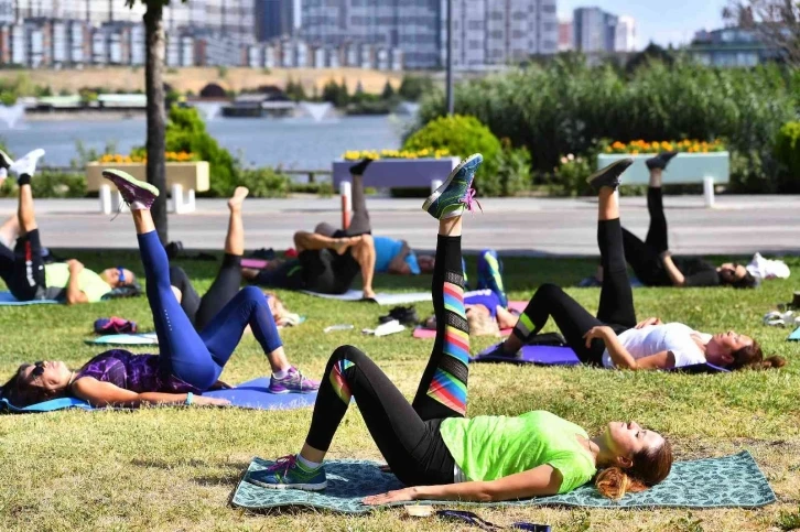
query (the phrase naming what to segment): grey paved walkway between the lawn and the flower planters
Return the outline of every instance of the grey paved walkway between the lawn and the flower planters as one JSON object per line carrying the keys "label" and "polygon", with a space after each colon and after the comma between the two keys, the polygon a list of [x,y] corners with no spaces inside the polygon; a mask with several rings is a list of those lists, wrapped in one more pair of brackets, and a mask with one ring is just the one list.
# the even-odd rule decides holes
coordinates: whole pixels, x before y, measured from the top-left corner
{"label": "grey paved walkway between the lawn and the flower planters", "polygon": [[[596,202],[592,198],[486,198],[484,213],[465,220],[464,248],[493,247],[505,253],[595,256]],[[748,254],[755,251],[800,253],[800,196],[718,196],[713,209],[700,196],[668,196],[670,246],[675,253]],[[418,249],[432,249],[432,220],[421,199],[369,199],[374,232],[403,238]],[[623,198],[623,221],[642,238],[648,214],[645,198]],[[15,211],[13,199],[0,199],[0,216]],[[247,247],[292,246],[298,229],[318,221],[338,225],[338,197],[248,199]],[[127,215],[97,213],[96,199],[39,199],[36,215],[43,241],[54,248],[134,248]],[[218,249],[227,228],[223,199],[199,199],[197,211],[170,216],[170,239],[186,248]]]}

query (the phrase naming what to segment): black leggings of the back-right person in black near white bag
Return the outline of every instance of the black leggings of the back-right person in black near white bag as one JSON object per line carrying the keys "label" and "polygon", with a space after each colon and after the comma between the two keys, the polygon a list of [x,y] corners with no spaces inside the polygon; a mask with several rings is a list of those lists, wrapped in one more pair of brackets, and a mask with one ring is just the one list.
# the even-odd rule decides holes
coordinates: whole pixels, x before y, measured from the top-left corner
{"label": "black leggings of the back-right person in black near white bag", "polygon": [[650,228],[644,242],[633,232],[623,229],[625,260],[644,284],[671,286],[672,282],[660,258],[669,249],[661,187],[651,186],[647,189],[647,210],[650,213]]}

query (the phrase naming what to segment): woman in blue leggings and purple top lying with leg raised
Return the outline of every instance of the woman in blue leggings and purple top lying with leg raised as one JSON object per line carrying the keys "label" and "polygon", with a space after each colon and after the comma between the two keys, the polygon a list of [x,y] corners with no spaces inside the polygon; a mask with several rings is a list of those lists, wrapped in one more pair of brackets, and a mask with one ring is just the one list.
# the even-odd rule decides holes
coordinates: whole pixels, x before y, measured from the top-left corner
{"label": "woman in blue leggings and purple top lying with leg raised", "polygon": [[64,395],[84,399],[95,406],[226,404],[194,394],[215,387],[248,325],[272,367],[272,393],[305,393],[318,388],[287,360],[267,298],[256,287],[239,291],[197,333],[172,290],[170,263],[150,216],[159,191],[125,172],[108,170],[102,175],[117,185],[133,215],[161,352],[133,355],[113,349],[93,358],[78,371],[69,370],[64,362],[25,363],[2,387],[3,398],[17,406]]}

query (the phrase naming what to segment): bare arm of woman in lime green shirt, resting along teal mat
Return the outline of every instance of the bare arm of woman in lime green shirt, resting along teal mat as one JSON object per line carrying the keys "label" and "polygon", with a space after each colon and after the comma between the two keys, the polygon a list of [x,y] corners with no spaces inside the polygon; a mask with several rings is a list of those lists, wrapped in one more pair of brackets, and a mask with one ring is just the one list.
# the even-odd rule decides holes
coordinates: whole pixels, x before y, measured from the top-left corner
{"label": "bare arm of woman in lime green shirt, resting along teal mat", "polygon": [[561,488],[562,476],[552,466],[539,466],[527,471],[509,475],[497,480],[414,486],[364,499],[366,504],[386,504],[402,500],[458,500],[490,502],[529,497],[555,495]]}

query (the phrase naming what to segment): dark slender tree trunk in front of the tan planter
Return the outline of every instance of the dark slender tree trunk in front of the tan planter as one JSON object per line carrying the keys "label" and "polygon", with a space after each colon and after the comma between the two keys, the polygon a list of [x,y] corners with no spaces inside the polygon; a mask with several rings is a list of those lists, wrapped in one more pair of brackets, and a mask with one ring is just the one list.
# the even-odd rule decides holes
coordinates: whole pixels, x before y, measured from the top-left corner
{"label": "dark slender tree trunk in front of the tan planter", "polygon": [[145,68],[144,85],[148,95],[148,182],[155,185],[161,194],[151,211],[159,231],[161,243],[166,243],[166,163],[164,152],[164,131],[166,110],[164,109],[164,21],[161,2],[148,2],[144,13]]}

